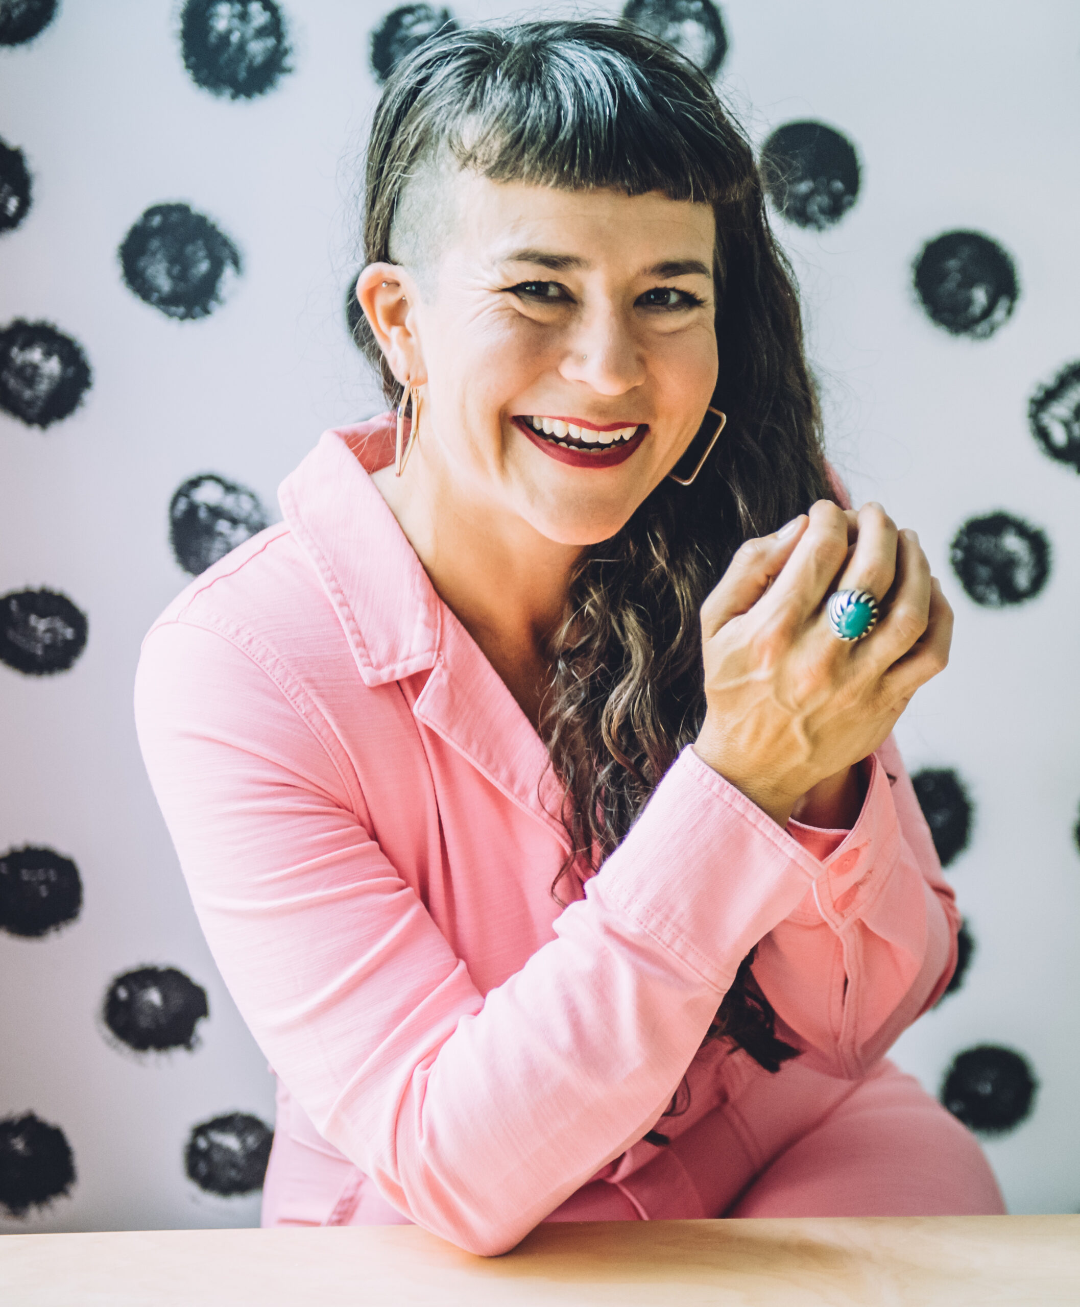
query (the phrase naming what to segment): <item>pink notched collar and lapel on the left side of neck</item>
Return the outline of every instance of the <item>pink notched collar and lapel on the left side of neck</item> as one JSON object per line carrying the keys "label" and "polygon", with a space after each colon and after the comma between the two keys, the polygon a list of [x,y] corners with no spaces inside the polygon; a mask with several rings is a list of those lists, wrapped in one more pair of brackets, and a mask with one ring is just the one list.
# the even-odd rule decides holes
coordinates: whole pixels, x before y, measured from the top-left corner
{"label": "pink notched collar and lapel on the left side of neck", "polygon": [[394,439],[392,413],[326,431],[281,482],[281,512],[319,574],[363,684],[430,672],[413,704],[418,720],[569,850],[547,746],[435,593],[371,481],[369,473],[392,460]]}

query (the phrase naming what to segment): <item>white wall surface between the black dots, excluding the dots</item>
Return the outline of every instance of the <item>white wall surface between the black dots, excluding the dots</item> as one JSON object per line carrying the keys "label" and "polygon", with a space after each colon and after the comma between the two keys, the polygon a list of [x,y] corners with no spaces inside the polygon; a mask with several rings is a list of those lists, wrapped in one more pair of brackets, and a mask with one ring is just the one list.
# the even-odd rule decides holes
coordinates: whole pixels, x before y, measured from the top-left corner
{"label": "white wall surface between the black dots, excluding the dots", "polygon": [[[169,0],[63,0],[34,42],[0,48],[0,137],[34,179],[26,220],[0,234],[0,328],[47,319],[94,374],[82,406],[46,430],[0,413],[0,595],[48,587],[89,616],[69,672],[0,665],[0,856],[55,848],[85,894],[58,932],[0,931],[0,1117],[60,1125],[77,1171],[69,1196],[25,1219],[0,1213],[0,1230],[258,1222],[258,1193],[216,1197],[183,1171],[196,1121],[272,1121],[272,1082],[187,901],[131,685],[143,634],[188,579],[167,538],[180,482],[220,473],[276,516],[277,484],[319,433],[378,406],[341,302],[377,94],[369,33],[390,8],[288,3],[294,71],[250,102],[194,85]],[[462,21],[511,12],[454,8]],[[900,735],[910,767],[956,767],[975,800],[949,874],[977,953],[962,989],[896,1055],[936,1093],[962,1048],[1022,1052],[1036,1108],[988,1154],[1011,1210],[1076,1210],[1080,481],[1039,452],[1025,412],[1037,383],[1080,358],[1080,10],[730,0],[722,12],[719,82],[754,140],[812,118],[859,152],[858,203],[837,226],[777,226],[805,293],[833,459],[856,501],[880,498],[919,531],[957,610],[952,665]],[[242,251],[243,276],[199,322],[170,320],[119,274],[126,231],[165,201],[209,214]],[[910,289],[922,244],[956,227],[994,237],[1019,268],[1016,311],[986,341],[932,325]],[[1038,599],[988,610],[962,592],[948,545],[999,507],[1047,532],[1054,565]],[[207,989],[194,1051],[139,1057],[103,1038],[106,987],[140,965]]]}

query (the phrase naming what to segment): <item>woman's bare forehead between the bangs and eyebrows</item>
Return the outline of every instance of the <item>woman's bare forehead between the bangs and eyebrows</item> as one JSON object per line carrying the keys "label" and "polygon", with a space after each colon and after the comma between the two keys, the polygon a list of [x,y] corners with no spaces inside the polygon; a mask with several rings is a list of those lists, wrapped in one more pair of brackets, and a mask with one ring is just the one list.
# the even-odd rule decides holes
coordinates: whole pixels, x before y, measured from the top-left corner
{"label": "woman's bare forehead between the bangs and eyebrows", "polygon": [[533,251],[564,256],[567,268],[603,265],[626,273],[668,261],[713,267],[715,217],[709,204],[656,191],[560,191],[465,173],[451,184],[458,221],[447,254],[456,259],[497,267]]}

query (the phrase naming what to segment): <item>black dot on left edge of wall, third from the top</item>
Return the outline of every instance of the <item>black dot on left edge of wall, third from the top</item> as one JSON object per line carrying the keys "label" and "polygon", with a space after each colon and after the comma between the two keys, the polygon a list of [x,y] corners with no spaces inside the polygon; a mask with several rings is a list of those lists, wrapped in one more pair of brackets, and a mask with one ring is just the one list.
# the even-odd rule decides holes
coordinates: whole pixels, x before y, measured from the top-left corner
{"label": "black dot on left edge of wall, third from the top", "polygon": [[0,408],[42,429],[69,417],[92,383],[82,346],[50,323],[17,318],[0,331]]}

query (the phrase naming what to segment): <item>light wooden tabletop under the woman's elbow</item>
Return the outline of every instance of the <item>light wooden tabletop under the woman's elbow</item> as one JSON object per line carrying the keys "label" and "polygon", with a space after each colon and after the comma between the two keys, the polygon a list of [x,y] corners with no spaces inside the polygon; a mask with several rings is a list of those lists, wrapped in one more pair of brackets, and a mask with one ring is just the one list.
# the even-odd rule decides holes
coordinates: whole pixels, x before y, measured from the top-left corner
{"label": "light wooden tabletop under the woman's elbow", "polygon": [[1080,1304],[1080,1216],[543,1225],[505,1257],[416,1226],[0,1236],[4,1307]]}

